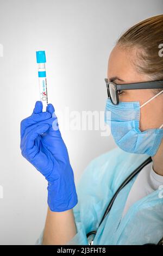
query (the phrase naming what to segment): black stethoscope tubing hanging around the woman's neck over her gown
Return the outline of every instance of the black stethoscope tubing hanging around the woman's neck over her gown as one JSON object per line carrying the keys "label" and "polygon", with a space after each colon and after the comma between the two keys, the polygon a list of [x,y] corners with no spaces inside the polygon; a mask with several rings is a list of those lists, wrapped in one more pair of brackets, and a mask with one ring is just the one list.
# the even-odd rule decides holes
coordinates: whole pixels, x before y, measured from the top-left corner
{"label": "black stethoscope tubing hanging around the woman's neck over her gown", "polygon": [[[137,167],[134,172],[132,172],[127,178],[126,180],[123,181],[123,183],[121,184],[120,187],[118,187],[117,191],[115,192],[114,196],[112,197],[112,199],[110,200],[110,203],[108,205],[108,207],[106,208],[105,210],[105,213],[102,217],[102,220],[101,222],[99,223],[99,225],[101,225],[101,223],[103,222],[104,218],[106,217],[106,215],[108,214],[108,212],[110,211],[111,209],[111,206],[112,204],[114,203],[114,200],[116,199],[117,197],[117,194],[122,190],[122,188],[124,186],[126,186],[128,184],[128,182],[134,178],[134,176],[140,172],[140,170],[145,167],[148,163],[150,163],[152,161],[152,158],[151,156],[148,157],[148,159],[146,159],[143,163],[140,164],[139,167]],[[99,228],[99,225],[98,225],[98,228]],[[88,239],[89,236],[91,236],[91,239],[89,238],[88,239],[88,242],[89,242],[89,245],[92,245],[93,244],[93,239],[95,239],[95,235],[97,233],[97,230],[96,231],[90,231],[89,233],[86,234],[86,237]],[[145,243],[145,245],[163,245],[163,237],[161,238],[161,240],[158,242],[158,243]]]}

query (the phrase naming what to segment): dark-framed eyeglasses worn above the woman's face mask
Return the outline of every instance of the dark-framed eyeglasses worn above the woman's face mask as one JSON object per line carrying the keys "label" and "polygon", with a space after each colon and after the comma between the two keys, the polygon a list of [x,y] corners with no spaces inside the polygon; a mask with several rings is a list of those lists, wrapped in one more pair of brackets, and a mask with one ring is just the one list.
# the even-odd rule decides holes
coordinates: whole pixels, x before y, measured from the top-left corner
{"label": "dark-framed eyeglasses worn above the woman's face mask", "polygon": [[163,88],[163,80],[139,82],[139,83],[126,83],[126,84],[116,84],[114,82],[108,82],[105,78],[106,88],[108,92],[108,97],[114,105],[119,103],[119,94],[121,90],[131,90],[131,89],[158,89]]}

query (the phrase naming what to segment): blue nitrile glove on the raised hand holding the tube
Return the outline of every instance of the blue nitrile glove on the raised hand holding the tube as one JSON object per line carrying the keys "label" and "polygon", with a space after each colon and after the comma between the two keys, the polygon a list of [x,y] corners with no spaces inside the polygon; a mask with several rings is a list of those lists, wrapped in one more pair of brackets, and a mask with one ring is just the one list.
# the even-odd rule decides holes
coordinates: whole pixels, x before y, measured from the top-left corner
{"label": "blue nitrile glove on the raised hand holding the tube", "polygon": [[66,145],[61,137],[52,104],[42,112],[36,101],[30,117],[21,121],[21,152],[48,181],[48,205],[51,211],[66,211],[78,203],[74,174]]}

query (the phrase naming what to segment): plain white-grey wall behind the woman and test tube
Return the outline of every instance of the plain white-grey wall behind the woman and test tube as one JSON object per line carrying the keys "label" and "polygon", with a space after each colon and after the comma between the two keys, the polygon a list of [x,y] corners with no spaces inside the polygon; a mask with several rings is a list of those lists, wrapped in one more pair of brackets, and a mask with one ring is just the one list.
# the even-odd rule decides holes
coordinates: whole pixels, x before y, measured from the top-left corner
{"label": "plain white-grey wall behind the woman and test tube", "polygon": [[[45,223],[47,182],[20,150],[20,122],[39,100],[35,51],[46,51],[48,100],[56,113],[65,107],[104,111],[104,78],[116,39],[162,10],[161,0],[0,1],[1,245],[34,244]],[[60,130],[76,182],[90,160],[115,147],[100,131]]]}

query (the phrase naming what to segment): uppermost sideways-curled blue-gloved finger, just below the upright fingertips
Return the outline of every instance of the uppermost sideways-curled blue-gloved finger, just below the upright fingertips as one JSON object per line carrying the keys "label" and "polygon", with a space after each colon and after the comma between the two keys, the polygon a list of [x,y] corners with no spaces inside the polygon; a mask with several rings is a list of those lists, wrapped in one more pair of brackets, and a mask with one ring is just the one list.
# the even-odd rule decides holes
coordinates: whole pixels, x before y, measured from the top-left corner
{"label": "uppermost sideways-curled blue-gloved finger, just below the upright fingertips", "polygon": [[48,112],[41,112],[38,114],[33,113],[30,117],[27,117],[21,121],[21,137],[24,134],[26,128],[30,125],[39,123],[40,121],[47,120],[51,118],[51,114]]}

